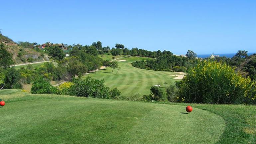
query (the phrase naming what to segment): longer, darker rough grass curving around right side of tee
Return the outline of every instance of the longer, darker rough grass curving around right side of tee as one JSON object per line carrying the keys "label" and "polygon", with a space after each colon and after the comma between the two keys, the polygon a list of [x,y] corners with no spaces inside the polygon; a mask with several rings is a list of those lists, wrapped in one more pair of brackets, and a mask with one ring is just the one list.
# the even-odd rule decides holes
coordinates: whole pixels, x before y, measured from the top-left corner
{"label": "longer, darker rough grass curving around right side of tee", "polygon": [[217,143],[255,144],[256,143],[256,106],[209,105],[165,103],[171,105],[190,105],[220,115],[226,123],[224,133]]}

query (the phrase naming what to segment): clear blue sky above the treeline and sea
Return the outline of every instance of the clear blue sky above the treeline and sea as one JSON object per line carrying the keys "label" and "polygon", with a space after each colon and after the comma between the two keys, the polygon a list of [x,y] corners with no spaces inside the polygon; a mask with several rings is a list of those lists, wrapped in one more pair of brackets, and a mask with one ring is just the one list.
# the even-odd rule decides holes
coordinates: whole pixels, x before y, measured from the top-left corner
{"label": "clear blue sky above the treeline and sea", "polygon": [[186,54],[256,52],[255,0],[9,0],[0,29],[14,41],[122,43]]}

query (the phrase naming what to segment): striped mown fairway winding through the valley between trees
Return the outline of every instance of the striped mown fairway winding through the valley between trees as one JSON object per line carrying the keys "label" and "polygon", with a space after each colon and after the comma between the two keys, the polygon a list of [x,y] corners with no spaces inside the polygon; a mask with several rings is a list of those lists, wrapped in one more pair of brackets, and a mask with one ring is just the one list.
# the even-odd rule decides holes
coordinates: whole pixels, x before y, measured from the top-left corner
{"label": "striped mown fairway winding through the valley between trees", "polygon": [[[130,57],[130,58],[119,58],[118,60],[126,60],[125,62],[118,62],[121,69],[117,72],[114,69],[113,73],[111,67],[107,67],[107,70],[97,71],[96,74],[91,73],[87,76],[102,79],[104,78],[106,86],[110,89],[117,88],[121,91],[121,95],[126,97],[139,97],[148,95],[150,88],[153,85],[158,85],[163,88],[174,84],[173,79],[176,73],[174,72],[163,72],[163,71],[152,71],[135,68],[131,65],[136,60],[147,60],[150,58],[146,57]],[[164,83],[167,82],[165,85]]]}

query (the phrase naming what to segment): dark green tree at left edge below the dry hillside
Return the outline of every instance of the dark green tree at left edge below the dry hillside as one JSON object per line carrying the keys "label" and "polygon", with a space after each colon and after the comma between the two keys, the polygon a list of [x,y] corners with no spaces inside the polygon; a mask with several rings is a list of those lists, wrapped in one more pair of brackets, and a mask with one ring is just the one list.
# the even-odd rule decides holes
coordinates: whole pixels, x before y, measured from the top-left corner
{"label": "dark green tree at left edge below the dry hillside", "polygon": [[1,43],[0,44],[0,67],[7,68],[11,64],[14,64],[14,61],[12,59],[12,54],[8,52],[5,49],[4,44]]}

